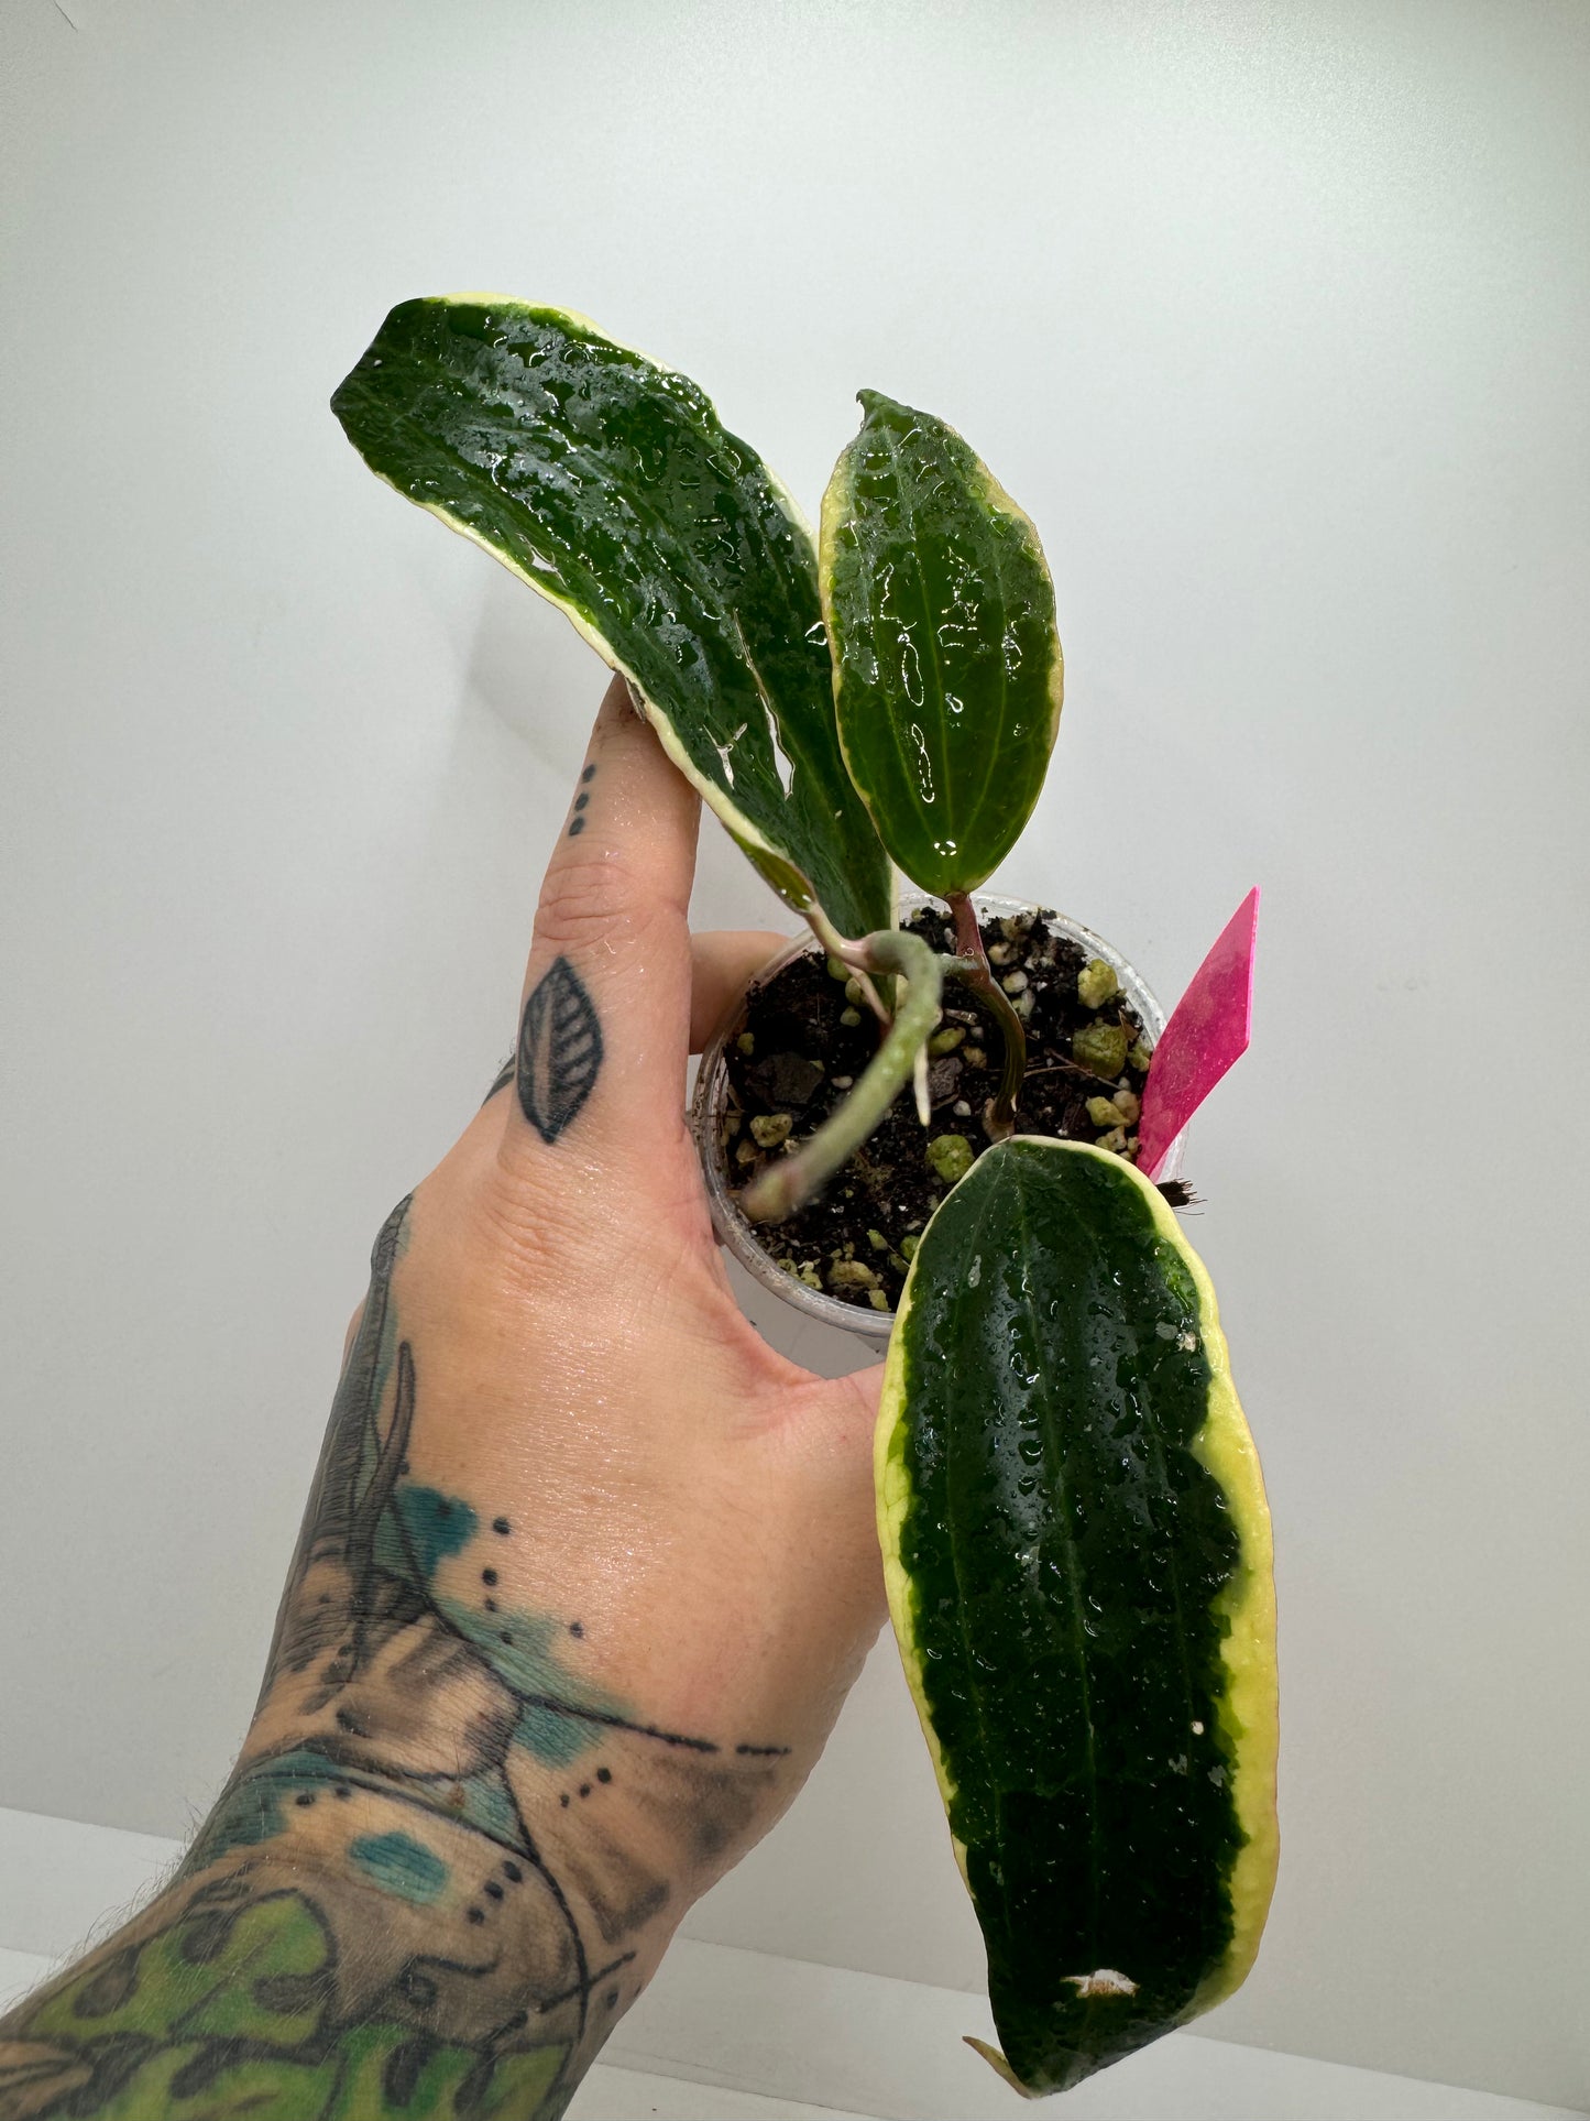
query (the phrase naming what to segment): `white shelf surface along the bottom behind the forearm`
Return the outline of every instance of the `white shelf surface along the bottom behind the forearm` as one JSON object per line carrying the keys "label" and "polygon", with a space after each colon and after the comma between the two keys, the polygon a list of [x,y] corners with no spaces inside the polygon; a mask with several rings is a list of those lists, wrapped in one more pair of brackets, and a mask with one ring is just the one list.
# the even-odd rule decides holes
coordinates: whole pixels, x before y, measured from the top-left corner
{"label": "white shelf surface along the bottom behind the forearm", "polygon": [[[0,2009],[151,1890],[176,1841],[0,1807]],[[1015,2121],[962,2034],[977,1996],[678,1939],[570,2121]],[[1170,2034],[1068,2093],[1064,2121],[1577,2121],[1492,2091]]]}

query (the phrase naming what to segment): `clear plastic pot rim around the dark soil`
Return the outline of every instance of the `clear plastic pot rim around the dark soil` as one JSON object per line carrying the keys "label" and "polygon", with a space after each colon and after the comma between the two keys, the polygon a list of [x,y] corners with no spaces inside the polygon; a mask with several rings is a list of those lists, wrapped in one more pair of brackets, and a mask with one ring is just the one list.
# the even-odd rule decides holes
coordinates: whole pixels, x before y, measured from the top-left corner
{"label": "clear plastic pot rim around the dark soil", "polygon": [[[1032,912],[1024,899],[1003,899],[988,891],[973,893],[977,914],[982,921],[999,921],[1009,914]],[[901,921],[909,921],[922,906],[937,906],[937,899],[924,897],[920,891],[901,893]],[[1049,925],[1068,935],[1079,944],[1088,957],[1102,957],[1107,965],[1115,967],[1115,978],[1121,982],[1121,993],[1128,1003],[1136,1010],[1143,1020],[1143,1029],[1149,1035],[1149,1044],[1160,1041],[1164,1031],[1164,1010],[1153,999],[1153,993],[1138,976],[1138,971],[1121,957],[1113,944],[1107,944],[1102,935],[1094,935],[1092,929],[1081,927],[1079,921],[1068,921],[1064,914],[1052,914]],[[801,957],[801,952],[816,954],[816,942],[810,931],[793,935],[776,957],[757,974],[753,984],[763,984],[772,980],[776,971],[782,971],[791,959]],[[717,1035],[702,1054],[702,1067],[695,1075],[695,1097],[691,1099],[691,1133],[695,1135],[695,1147],[702,1158],[702,1173],[706,1177],[706,1198],[712,1209],[712,1228],[725,1249],[744,1266],[744,1270],[759,1281],[765,1290],[778,1296],[782,1302],[791,1304],[808,1319],[818,1319],[825,1326],[837,1326],[842,1332],[856,1334],[861,1340],[882,1343],[895,1324],[893,1311],[873,1311],[863,1304],[846,1304],[837,1296],[827,1296],[823,1290],[808,1287],[806,1281],[797,1281],[795,1275],[778,1266],[774,1258],[763,1249],[761,1237],[757,1234],[757,1224],[746,1222],[740,1209],[734,1205],[734,1184],[723,1169],[721,1160],[721,1139],[723,1139],[723,1114],[729,1094],[729,1071],[723,1065],[723,1052],[729,1039],[744,1031],[746,1022],[746,997],[742,995],[738,1005],[719,1024]],[[1181,1173],[1181,1150],[1185,1143],[1185,1130],[1177,1135],[1170,1145],[1170,1154],[1160,1169],[1162,1179],[1172,1179]],[[778,1228],[776,1224],[772,1228]]]}

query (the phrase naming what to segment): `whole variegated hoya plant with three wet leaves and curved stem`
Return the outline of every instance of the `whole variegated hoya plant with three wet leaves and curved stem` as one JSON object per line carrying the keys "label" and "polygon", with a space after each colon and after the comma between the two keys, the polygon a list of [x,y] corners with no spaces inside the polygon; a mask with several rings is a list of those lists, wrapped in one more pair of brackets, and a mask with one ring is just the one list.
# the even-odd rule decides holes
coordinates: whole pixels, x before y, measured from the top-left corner
{"label": "whole variegated hoya plant with three wet leaves and curved stem", "polygon": [[[333,405],[379,477],[623,672],[876,1022],[848,1097],[757,1160],[746,1217],[812,1200],[912,1082],[926,1122],[946,982],[994,1024],[996,1086],[935,1162],[895,1311],[878,1527],[988,1943],[984,2053],[1066,2089],[1251,1966],[1276,1699],[1270,1521],[1208,1277],[1134,1169],[1130,1090],[1105,1147],[1022,1133],[1022,997],[975,906],[1060,719],[1037,530],[954,428],[863,392],[814,537],[695,384],[502,297],[401,303]],[[897,870],[946,908],[946,948],[899,925]],[[1102,1005],[1115,974],[1077,988]],[[1111,1090],[1119,1018],[1077,1039]]]}

